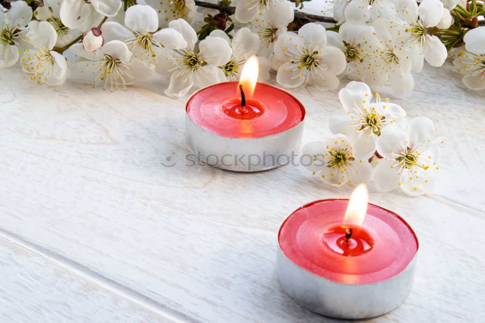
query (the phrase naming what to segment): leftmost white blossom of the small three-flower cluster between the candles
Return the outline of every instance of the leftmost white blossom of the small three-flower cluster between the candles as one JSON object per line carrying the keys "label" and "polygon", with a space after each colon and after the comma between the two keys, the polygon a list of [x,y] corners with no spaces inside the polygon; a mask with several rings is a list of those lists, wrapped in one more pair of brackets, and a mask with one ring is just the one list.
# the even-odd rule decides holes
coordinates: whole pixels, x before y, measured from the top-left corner
{"label": "leftmost white blossom of the small three-flower cluster between the candles", "polygon": [[307,158],[302,158],[304,167],[327,184],[340,186],[369,181],[371,164],[367,158],[355,154],[350,139],[343,134],[333,135],[324,142],[309,142],[302,153],[312,159],[307,163]]}

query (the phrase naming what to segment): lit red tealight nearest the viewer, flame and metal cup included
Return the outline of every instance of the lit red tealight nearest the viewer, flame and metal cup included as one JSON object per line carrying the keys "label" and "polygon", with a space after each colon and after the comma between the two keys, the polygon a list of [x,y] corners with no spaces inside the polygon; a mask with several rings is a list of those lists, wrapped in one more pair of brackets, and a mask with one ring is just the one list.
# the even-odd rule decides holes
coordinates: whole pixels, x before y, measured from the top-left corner
{"label": "lit red tealight nearest the viewer, flame and metal cup included", "polygon": [[309,203],[281,225],[278,280],[303,307],[362,319],[387,313],[409,294],[418,239],[399,215],[367,199],[359,185],[350,200]]}

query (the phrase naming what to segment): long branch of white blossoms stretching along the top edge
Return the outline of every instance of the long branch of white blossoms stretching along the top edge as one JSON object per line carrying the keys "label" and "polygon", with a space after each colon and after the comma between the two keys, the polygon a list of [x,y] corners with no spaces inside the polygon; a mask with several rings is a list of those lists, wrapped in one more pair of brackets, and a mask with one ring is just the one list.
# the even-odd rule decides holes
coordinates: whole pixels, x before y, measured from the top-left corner
{"label": "long branch of white blossoms stretching along the top edge", "polygon": [[441,66],[450,50],[464,84],[485,89],[482,0],[332,0],[336,24],[327,29],[300,23],[301,1],[234,2],[230,15],[194,0],[1,0],[0,67],[112,91],[160,74],[170,79],[165,93],[180,97],[237,79],[257,55],[260,81],[274,70],[282,86],[332,90],[348,77],[400,95],[424,61]]}

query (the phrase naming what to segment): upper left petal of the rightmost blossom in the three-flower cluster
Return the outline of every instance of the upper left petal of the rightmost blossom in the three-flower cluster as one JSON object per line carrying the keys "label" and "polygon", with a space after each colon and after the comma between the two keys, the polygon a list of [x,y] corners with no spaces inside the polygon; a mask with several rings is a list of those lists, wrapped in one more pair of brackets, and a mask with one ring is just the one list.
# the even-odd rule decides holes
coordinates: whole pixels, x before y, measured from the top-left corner
{"label": "upper left petal of the rightmost blossom in the three-flower cluster", "polygon": [[388,125],[382,128],[381,135],[375,141],[375,148],[384,158],[394,160],[400,153],[407,152],[406,141],[407,136],[403,129]]}

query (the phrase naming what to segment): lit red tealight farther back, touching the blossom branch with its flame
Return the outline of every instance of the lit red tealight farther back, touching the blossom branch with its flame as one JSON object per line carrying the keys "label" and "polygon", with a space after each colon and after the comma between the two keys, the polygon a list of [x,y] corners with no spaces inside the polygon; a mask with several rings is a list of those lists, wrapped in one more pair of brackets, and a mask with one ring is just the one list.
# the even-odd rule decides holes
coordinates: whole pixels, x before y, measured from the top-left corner
{"label": "lit red tealight farther back, touching the blossom branch with its flame", "polygon": [[239,82],[211,85],[187,101],[186,141],[207,164],[259,171],[288,163],[298,151],[305,108],[290,93],[257,83],[258,69],[253,56]]}

